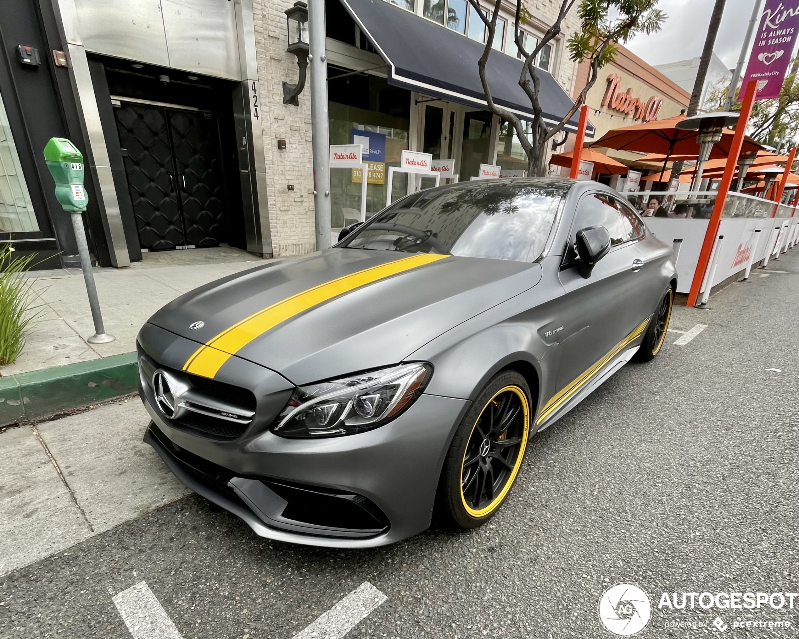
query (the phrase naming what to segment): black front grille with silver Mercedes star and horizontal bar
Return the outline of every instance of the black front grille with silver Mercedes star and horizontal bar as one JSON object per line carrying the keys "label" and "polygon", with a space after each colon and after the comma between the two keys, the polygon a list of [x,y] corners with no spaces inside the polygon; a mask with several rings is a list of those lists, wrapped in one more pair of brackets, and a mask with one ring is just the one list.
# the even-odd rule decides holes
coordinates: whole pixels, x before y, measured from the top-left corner
{"label": "black front grille with silver Mercedes star and horizontal bar", "polygon": [[[152,394],[152,404],[173,428],[214,440],[237,440],[252,424],[256,398],[248,389],[169,369],[141,351],[139,366],[142,381]],[[159,403],[158,389],[153,388],[156,373],[163,375],[172,393],[167,406]]]}

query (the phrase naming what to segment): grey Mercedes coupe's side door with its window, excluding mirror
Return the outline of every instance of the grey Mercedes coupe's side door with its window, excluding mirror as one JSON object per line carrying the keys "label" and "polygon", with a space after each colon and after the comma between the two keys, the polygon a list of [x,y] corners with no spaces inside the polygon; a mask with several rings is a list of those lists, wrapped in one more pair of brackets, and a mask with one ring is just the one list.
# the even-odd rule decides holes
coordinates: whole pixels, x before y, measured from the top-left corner
{"label": "grey Mercedes coupe's side door with its window, excluding mirror", "polygon": [[[577,231],[594,226],[610,233],[610,250],[596,263],[590,278],[582,278],[574,240]],[[638,305],[631,303],[642,279],[638,277],[642,256],[636,244],[630,220],[613,196],[598,191],[582,196],[559,270],[565,291],[562,313],[569,333],[560,346],[559,390],[602,361],[642,321]]]}

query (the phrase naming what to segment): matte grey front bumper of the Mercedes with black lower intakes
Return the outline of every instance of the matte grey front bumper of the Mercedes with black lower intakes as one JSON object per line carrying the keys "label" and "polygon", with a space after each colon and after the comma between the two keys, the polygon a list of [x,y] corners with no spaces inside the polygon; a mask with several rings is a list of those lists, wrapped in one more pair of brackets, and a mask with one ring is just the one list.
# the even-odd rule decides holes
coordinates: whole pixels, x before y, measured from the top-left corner
{"label": "matte grey front bumper of the Mercedes with black lower intakes", "polygon": [[[155,352],[153,344],[163,340],[189,345],[173,343]],[[156,327],[140,333],[139,387],[153,420],[145,441],[182,483],[244,519],[256,534],[280,541],[365,548],[400,541],[430,525],[444,456],[467,400],[422,395],[396,420],[357,435],[292,440],[262,425],[219,440],[167,419],[141,364],[145,357],[150,365],[155,360],[174,369],[182,355],[175,362],[169,353],[192,345]],[[256,387],[280,385],[254,379],[277,376],[257,368],[243,377]],[[348,525],[348,514],[359,513],[365,513],[359,519],[376,523]],[[336,519],[336,525],[325,516]]]}

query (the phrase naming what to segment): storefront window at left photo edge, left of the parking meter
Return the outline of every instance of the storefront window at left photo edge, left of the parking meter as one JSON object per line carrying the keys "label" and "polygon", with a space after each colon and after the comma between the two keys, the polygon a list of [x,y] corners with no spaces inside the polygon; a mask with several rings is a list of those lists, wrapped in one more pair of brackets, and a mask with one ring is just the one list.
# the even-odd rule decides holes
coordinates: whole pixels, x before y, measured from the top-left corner
{"label": "storefront window at left photo edge, left of the parking meter", "polygon": [[38,231],[14,136],[0,97],[0,232]]}

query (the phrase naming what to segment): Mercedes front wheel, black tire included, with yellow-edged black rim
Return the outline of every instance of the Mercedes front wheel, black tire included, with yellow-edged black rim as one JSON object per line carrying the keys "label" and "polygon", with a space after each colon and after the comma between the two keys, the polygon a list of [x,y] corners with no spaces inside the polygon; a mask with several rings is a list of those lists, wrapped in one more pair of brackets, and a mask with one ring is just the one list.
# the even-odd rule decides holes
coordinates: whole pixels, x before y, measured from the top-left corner
{"label": "Mercedes front wheel, black tire included, with yellow-edged black rim", "polygon": [[[476,528],[496,514],[522,466],[532,405],[527,381],[515,371],[498,373],[480,391],[444,460],[436,495],[440,523]],[[493,429],[491,420],[495,420]],[[500,447],[500,441],[513,444]]]}

